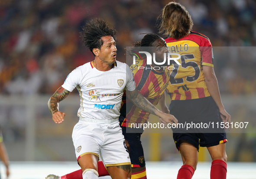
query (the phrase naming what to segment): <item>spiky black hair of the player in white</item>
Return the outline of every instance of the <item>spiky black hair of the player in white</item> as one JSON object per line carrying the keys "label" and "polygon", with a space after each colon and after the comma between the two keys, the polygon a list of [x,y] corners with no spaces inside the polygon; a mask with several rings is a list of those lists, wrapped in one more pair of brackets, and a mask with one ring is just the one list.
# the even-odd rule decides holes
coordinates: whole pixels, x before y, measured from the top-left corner
{"label": "spiky black hair of the player in white", "polygon": [[[101,39],[104,36],[111,36],[115,41],[117,41],[117,31],[109,27],[107,22],[103,19],[95,19],[86,23],[82,27],[82,31],[79,33],[82,41],[84,42],[85,47],[89,48],[93,53],[94,48],[101,49],[103,45],[103,40]],[[95,54],[93,53],[95,56]]]}

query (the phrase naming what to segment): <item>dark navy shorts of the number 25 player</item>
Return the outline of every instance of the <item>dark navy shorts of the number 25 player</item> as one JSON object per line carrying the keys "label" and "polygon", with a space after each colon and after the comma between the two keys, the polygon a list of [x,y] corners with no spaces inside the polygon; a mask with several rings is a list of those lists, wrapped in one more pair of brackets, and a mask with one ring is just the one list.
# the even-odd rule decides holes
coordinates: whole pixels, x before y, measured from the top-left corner
{"label": "dark navy shorts of the number 25 player", "polygon": [[181,140],[188,141],[197,149],[199,149],[199,144],[201,147],[211,147],[227,142],[225,130],[215,126],[216,122],[222,122],[222,119],[217,104],[211,96],[193,100],[172,100],[169,110],[170,114],[182,124],[203,122],[209,125],[214,122],[214,126],[209,125],[209,128],[200,127],[190,130],[172,128],[177,149],[179,149]]}

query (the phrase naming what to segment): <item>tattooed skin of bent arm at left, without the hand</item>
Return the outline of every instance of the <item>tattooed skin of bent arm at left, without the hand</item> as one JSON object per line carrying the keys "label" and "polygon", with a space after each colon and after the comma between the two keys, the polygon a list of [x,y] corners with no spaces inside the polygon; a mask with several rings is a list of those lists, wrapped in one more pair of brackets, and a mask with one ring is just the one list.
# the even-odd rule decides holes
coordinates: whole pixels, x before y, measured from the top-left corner
{"label": "tattooed skin of bent arm at left, without the hand", "polygon": [[48,101],[48,108],[51,114],[54,114],[58,111],[58,103],[64,100],[70,92],[60,87],[58,90],[52,95],[52,97]]}

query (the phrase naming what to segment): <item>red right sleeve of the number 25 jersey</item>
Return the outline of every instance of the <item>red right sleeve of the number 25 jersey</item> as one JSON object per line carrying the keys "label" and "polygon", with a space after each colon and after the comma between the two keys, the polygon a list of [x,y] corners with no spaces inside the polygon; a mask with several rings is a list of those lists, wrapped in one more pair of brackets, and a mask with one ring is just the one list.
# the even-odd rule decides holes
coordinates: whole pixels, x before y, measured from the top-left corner
{"label": "red right sleeve of the number 25 jersey", "polygon": [[214,67],[213,65],[214,55],[213,55],[211,42],[209,40],[206,40],[204,43],[204,46],[200,47],[200,51],[202,53],[201,65]]}

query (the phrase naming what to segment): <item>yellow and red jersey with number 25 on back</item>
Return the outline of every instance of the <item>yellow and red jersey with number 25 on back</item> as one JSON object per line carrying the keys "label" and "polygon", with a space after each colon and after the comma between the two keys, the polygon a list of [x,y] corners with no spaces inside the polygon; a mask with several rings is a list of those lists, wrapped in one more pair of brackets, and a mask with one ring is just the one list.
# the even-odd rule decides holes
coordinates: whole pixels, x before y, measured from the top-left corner
{"label": "yellow and red jersey with number 25 on back", "polygon": [[204,81],[202,66],[213,67],[213,52],[210,40],[198,32],[176,40],[165,39],[171,53],[179,53],[181,58],[173,63],[167,92],[172,100],[189,100],[208,97],[210,93]]}

